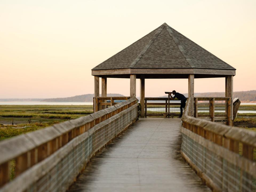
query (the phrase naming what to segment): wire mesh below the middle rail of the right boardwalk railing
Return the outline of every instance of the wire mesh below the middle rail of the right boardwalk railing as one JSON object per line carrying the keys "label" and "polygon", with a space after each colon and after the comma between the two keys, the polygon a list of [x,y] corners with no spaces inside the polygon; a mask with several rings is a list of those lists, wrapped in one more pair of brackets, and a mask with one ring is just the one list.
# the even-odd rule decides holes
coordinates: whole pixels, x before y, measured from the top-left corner
{"label": "wire mesh below the middle rail of the right boardwalk railing", "polygon": [[256,178],[182,133],[181,150],[222,191],[256,191]]}

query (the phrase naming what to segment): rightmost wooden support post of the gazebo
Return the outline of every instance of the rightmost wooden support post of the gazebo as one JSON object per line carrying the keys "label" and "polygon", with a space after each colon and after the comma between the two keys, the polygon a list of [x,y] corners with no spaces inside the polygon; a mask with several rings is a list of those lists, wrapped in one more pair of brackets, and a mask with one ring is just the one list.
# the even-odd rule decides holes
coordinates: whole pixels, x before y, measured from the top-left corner
{"label": "rightmost wooden support post of the gazebo", "polygon": [[228,102],[228,125],[232,126],[233,121],[233,75],[227,75],[225,78],[225,97],[230,97],[231,99]]}

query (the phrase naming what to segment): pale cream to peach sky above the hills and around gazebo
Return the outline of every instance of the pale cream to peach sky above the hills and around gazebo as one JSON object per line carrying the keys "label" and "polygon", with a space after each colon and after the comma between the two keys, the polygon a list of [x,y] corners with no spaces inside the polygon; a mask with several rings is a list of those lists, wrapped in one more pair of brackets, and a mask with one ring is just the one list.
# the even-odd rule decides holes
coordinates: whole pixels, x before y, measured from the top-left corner
{"label": "pale cream to peach sky above the hills and around gazebo", "polygon": [[[256,89],[255,0],[0,0],[0,98],[93,93],[91,69],[164,22],[235,67],[234,91]],[[187,82],[146,79],[145,96],[187,93]],[[107,93],[129,96],[129,83],[109,78]],[[195,92],[215,91],[224,78],[195,79]]]}

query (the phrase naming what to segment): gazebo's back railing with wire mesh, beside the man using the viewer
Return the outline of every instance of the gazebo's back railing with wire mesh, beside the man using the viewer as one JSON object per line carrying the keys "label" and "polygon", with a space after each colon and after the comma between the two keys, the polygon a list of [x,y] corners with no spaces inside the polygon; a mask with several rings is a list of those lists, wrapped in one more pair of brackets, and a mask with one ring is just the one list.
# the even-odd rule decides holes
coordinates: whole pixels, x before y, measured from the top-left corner
{"label": "gazebo's back railing with wire mesh, beside the man using the viewer", "polygon": [[[148,102],[148,101],[164,101],[164,102]],[[163,116],[163,113],[173,113],[175,116],[179,116],[180,113],[180,101],[178,99],[168,100],[168,97],[145,97],[145,117],[147,116]]]}

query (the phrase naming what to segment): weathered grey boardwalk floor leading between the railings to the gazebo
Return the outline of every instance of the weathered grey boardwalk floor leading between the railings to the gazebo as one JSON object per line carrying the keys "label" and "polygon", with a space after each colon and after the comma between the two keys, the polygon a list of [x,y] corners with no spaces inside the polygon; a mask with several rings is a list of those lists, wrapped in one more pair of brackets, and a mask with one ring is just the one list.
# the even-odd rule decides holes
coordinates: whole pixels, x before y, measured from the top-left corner
{"label": "weathered grey boardwalk floor leading between the railings to the gazebo", "polygon": [[210,191],[181,158],[180,123],[140,118],[91,159],[69,191]]}

